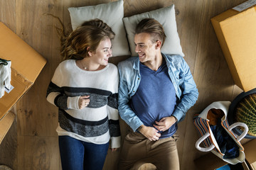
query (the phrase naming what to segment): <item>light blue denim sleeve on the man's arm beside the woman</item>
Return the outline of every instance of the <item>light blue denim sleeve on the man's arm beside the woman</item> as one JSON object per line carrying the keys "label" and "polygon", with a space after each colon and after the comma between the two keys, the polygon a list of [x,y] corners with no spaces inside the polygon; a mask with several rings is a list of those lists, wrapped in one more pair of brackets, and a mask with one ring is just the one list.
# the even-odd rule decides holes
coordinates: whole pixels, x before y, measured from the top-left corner
{"label": "light blue denim sleeve on the man's arm beside the woman", "polygon": [[134,93],[135,73],[132,69],[132,62],[121,62],[119,69],[119,91],[118,91],[118,111],[122,120],[124,120],[135,132],[139,126],[143,125],[142,120],[132,111],[129,101]]}

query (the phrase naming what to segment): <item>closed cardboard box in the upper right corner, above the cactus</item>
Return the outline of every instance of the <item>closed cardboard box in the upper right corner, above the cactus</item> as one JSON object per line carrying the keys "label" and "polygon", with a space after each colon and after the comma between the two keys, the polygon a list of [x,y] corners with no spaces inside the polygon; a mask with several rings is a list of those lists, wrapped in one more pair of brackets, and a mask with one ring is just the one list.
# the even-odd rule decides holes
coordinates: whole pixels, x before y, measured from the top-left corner
{"label": "closed cardboard box in the upper right corner, above the cactus", "polygon": [[[245,3],[250,6],[254,5],[255,1]],[[245,92],[255,89],[256,7],[250,6],[243,11],[232,8],[211,18],[210,21],[235,84]]]}

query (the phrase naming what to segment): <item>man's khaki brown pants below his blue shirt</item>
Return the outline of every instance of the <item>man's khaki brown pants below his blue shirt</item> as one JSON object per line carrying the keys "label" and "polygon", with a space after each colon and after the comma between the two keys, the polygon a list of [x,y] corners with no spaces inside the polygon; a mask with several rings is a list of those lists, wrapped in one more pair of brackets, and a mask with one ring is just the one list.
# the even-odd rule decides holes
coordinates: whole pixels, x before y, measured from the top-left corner
{"label": "man's khaki brown pants below his blue shirt", "polygon": [[144,163],[151,163],[159,170],[179,170],[176,140],[178,135],[150,141],[139,132],[129,132],[119,160],[119,170],[137,170]]}

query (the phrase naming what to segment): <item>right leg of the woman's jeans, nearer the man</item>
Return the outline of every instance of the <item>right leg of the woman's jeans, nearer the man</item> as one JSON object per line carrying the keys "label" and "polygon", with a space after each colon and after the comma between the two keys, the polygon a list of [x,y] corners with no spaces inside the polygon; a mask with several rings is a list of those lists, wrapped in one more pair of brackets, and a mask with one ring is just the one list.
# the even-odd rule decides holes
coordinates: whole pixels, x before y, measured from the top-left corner
{"label": "right leg of the woman's jeans, nearer the man", "polygon": [[83,142],[85,147],[85,170],[102,170],[109,148],[109,142],[103,145],[96,145]]}

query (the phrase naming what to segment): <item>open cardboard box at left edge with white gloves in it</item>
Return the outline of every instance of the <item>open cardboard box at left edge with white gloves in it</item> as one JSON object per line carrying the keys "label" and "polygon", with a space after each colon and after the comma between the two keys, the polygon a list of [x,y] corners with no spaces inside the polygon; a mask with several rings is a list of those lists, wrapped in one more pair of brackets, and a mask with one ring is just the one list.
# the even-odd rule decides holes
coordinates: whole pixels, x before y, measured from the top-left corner
{"label": "open cardboard box at left edge with white gloves in it", "polygon": [[31,88],[46,59],[0,22],[0,58],[11,60],[11,85],[9,94],[0,98],[0,123],[18,99]]}

